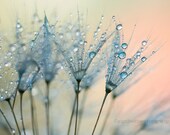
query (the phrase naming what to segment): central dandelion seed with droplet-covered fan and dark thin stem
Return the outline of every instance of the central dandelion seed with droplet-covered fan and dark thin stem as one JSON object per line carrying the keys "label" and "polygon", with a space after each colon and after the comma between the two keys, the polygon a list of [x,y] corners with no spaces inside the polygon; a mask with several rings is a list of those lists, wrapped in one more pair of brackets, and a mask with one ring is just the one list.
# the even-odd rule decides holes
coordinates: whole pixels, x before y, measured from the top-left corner
{"label": "central dandelion seed with droplet-covered fan and dark thin stem", "polygon": [[[103,19],[104,16],[101,17],[100,24],[94,32],[94,43],[92,44],[87,42],[86,34],[88,28],[83,24],[83,19],[80,17],[79,12],[77,19],[78,21],[75,23],[66,23],[66,25],[62,27],[61,32],[56,35],[56,45],[66,60],[66,68],[72,77],[73,84],[75,84],[77,100],[75,135],[77,134],[78,102],[81,81],[93,59],[96,57],[106,41],[113,35],[113,32],[109,33],[106,30],[99,37]],[[89,49],[87,49],[87,44],[90,44]]]}

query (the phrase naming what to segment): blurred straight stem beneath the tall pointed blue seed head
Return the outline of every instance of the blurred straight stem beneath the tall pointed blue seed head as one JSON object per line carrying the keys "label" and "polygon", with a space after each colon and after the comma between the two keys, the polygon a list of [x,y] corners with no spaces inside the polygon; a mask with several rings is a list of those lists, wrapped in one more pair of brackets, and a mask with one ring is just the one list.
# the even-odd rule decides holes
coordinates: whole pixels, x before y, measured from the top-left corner
{"label": "blurred straight stem beneath the tall pointed blue seed head", "polygon": [[46,111],[46,127],[47,127],[47,135],[50,135],[50,104],[49,104],[49,87],[50,82],[46,81],[46,97],[45,97],[45,111]]}

